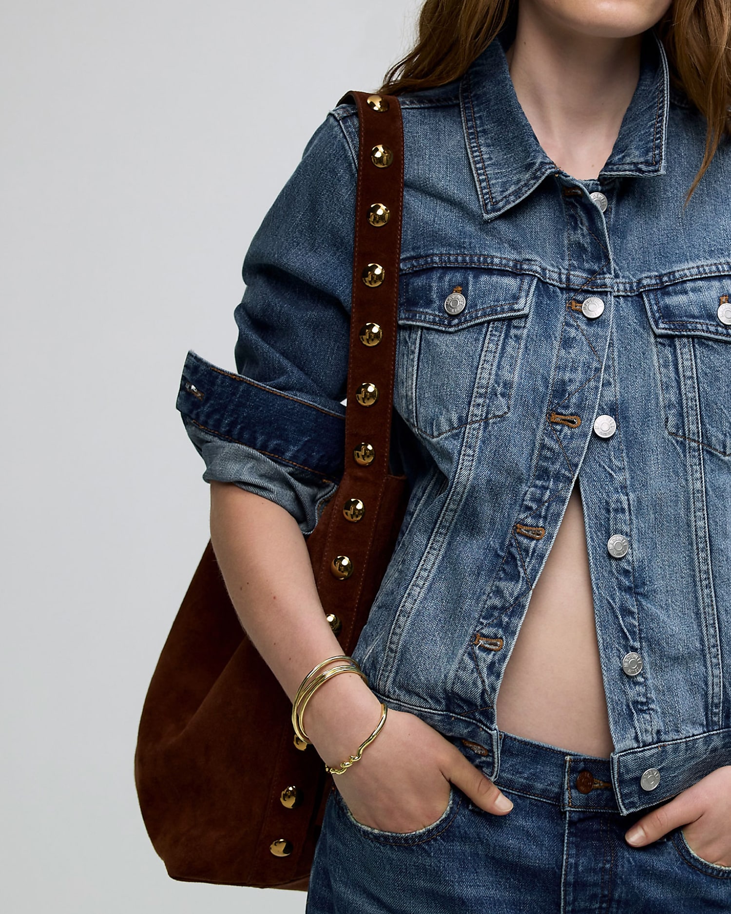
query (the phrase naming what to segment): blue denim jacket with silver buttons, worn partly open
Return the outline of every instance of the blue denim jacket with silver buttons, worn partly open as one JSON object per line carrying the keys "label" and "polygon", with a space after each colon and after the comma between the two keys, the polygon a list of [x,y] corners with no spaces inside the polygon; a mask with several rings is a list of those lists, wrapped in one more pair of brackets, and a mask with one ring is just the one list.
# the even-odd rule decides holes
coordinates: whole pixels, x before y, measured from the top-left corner
{"label": "blue denim jacket with silver buttons, worn partly open", "polygon": [[[577,180],[537,142],[507,47],[401,97],[390,458],[410,498],[354,656],[496,777],[495,697],[580,474],[630,813],[731,763],[731,154],[683,209],[705,121],[650,30],[609,159]],[[246,255],[237,372],[191,351],[177,402],[204,479],[305,537],[343,473],[357,145],[355,107],[334,108]]]}

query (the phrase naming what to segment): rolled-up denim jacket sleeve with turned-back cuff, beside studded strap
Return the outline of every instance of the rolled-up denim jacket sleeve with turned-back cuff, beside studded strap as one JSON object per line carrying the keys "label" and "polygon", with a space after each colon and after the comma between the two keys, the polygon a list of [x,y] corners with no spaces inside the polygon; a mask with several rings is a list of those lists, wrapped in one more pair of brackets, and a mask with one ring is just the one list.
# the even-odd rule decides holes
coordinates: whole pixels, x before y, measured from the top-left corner
{"label": "rolled-up denim jacket sleeve with turned-back cuff, beside studded strap", "polygon": [[244,259],[236,371],[191,350],[177,398],[203,479],[269,498],[309,535],[343,474],[355,109],[330,112]]}

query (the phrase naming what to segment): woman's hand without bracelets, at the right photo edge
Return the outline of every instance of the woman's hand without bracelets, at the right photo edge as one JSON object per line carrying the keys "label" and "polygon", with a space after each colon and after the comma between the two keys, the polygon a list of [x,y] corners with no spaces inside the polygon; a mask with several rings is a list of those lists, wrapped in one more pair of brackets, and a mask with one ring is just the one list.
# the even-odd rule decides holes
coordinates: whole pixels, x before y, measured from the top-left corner
{"label": "woman's hand without bracelets, at the right photo edge", "polygon": [[641,847],[679,825],[694,854],[717,866],[731,866],[731,765],[711,771],[648,813],[624,836],[630,845]]}

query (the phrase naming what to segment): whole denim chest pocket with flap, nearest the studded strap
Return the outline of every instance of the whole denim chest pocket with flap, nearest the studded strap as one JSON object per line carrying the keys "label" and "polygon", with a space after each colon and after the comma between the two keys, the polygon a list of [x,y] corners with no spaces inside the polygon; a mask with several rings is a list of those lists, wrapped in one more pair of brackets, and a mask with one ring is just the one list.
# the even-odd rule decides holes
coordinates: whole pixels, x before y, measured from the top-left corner
{"label": "whole denim chest pocket with flap, nearest the studded strap", "polygon": [[434,268],[401,276],[397,409],[429,438],[510,411],[535,277]]}

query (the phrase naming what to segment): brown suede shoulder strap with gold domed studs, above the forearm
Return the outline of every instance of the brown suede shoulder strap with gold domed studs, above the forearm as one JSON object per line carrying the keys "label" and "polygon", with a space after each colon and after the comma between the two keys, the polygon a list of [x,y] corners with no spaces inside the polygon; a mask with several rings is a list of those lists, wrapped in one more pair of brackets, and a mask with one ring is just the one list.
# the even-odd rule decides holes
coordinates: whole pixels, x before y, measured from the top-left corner
{"label": "brown suede shoulder strap with gold domed studs, above the forearm", "polygon": [[[353,293],[350,319],[344,475],[332,511],[310,539],[315,550],[327,531],[316,571],[323,607],[338,617],[346,653],[367,619],[376,595],[369,554],[387,497],[388,454],[397,338],[398,273],[404,189],[404,138],[394,96],[349,92],[358,108],[360,136],[355,202]],[[330,507],[330,505],[329,505]],[[320,558],[320,557],[318,557]],[[366,577],[369,576],[369,577]],[[335,622],[337,625],[337,622]]]}

